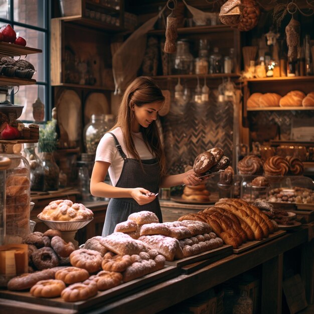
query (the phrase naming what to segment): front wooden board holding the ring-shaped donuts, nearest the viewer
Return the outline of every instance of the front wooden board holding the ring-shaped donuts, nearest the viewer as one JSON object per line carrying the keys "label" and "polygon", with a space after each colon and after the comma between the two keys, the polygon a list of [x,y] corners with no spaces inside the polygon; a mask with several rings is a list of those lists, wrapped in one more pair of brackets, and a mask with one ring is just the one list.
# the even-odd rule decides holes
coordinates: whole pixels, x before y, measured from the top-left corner
{"label": "front wooden board holding the ring-shaped donuts, nearest the viewer", "polygon": [[96,296],[78,302],[66,302],[61,297],[57,298],[34,297],[31,295],[30,292],[18,292],[9,290],[0,290],[0,297],[33,304],[67,308],[72,309],[77,313],[84,313],[86,312],[87,308],[97,307],[97,304],[103,305],[105,303],[124,298],[139,290],[146,289],[147,287],[152,286],[154,284],[174,278],[179,274],[180,274],[179,268],[175,266],[165,266],[165,268],[161,270],[152,272],[138,279],[122,283],[114,288],[105,291],[98,291],[98,294]]}

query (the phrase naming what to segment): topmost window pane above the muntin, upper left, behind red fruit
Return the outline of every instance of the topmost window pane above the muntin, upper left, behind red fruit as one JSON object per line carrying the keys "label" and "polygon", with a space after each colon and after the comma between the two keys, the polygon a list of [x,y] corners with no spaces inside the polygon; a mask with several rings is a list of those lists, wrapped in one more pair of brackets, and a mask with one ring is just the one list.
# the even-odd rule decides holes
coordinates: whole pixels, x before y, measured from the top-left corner
{"label": "topmost window pane above the muntin, upper left, behind red fruit", "polygon": [[14,0],[14,21],[45,27],[46,0]]}

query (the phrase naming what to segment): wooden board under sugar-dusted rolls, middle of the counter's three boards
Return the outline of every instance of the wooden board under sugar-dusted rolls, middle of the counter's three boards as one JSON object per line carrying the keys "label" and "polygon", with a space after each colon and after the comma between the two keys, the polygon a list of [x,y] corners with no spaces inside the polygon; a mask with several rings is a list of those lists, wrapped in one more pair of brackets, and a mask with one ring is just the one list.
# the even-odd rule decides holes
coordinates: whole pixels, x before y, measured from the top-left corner
{"label": "wooden board under sugar-dusted rolls, middle of the counter's three boards", "polygon": [[193,256],[185,257],[182,259],[177,259],[174,261],[166,261],[166,265],[171,265],[171,266],[177,266],[177,267],[182,267],[185,265],[193,264],[198,261],[202,260],[209,260],[213,257],[218,257],[218,259],[222,258],[221,255],[227,256],[227,255],[232,254],[232,246],[231,245],[223,245],[220,247],[217,247],[216,249],[206,251],[203,253],[199,253]]}

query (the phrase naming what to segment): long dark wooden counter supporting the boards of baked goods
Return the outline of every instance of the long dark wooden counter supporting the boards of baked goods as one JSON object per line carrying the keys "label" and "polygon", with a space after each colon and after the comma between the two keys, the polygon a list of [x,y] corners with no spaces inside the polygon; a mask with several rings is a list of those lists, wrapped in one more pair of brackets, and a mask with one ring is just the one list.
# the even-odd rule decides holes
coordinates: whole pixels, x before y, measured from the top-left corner
{"label": "long dark wooden counter supporting the boards of baked goods", "polygon": [[[312,240],[313,241],[313,240]],[[150,287],[119,298],[110,303],[96,303],[84,313],[155,313],[181,302],[195,294],[216,286],[255,266],[262,265],[262,313],[281,313],[283,253],[301,246],[308,252],[308,228],[301,227],[281,237],[266,242],[241,254],[232,254],[213,262],[191,274],[181,274]],[[305,249],[307,247],[307,249]],[[308,276],[308,263],[302,263],[301,274]],[[303,280],[306,280],[304,278]],[[308,279],[312,280],[312,278]],[[44,304],[44,302],[43,302]],[[63,309],[47,305],[30,304],[23,301],[0,298],[1,312],[19,313],[77,313],[74,309]]]}

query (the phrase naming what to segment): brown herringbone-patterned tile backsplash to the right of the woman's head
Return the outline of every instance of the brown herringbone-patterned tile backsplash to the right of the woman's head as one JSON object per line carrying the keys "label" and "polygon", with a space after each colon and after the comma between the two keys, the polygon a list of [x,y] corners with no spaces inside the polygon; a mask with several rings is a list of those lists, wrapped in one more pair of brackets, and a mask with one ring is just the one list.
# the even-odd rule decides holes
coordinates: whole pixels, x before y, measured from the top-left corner
{"label": "brown herringbone-patterned tile backsplash to the right of the woman's head", "polygon": [[212,147],[221,147],[232,160],[233,104],[188,103],[178,106],[172,103],[171,111],[162,118],[165,150],[170,174],[184,172],[193,166],[198,154]]}

